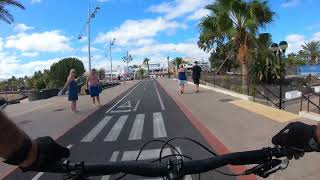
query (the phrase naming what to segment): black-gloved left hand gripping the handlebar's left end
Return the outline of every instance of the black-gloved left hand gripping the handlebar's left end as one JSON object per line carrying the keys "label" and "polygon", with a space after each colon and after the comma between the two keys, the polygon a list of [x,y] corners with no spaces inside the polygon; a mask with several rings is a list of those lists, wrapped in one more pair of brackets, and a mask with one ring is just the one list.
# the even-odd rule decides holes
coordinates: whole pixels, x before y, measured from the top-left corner
{"label": "black-gloved left hand gripping the handlebar's left end", "polygon": [[35,139],[37,144],[37,158],[29,167],[21,167],[23,171],[49,171],[54,169],[57,162],[70,156],[68,148],[60,146],[51,137]]}

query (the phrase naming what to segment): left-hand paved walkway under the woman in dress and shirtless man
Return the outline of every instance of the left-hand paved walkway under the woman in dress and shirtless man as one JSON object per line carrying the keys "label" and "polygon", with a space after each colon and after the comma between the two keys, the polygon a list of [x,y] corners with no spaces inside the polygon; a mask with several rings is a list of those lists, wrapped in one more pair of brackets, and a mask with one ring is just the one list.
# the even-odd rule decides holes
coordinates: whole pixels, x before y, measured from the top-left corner
{"label": "left-hand paved walkway under the woman in dress and shirtless man", "polygon": [[[138,81],[106,89],[100,94],[101,104],[106,105],[114,98],[133,87]],[[79,112],[72,113],[66,96],[7,106],[5,112],[31,137],[51,136],[59,138],[69,129],[99,109],[92,104],[90,96],[79,96]],[[0,163],[0,179],[12,170],[12,166]]]}

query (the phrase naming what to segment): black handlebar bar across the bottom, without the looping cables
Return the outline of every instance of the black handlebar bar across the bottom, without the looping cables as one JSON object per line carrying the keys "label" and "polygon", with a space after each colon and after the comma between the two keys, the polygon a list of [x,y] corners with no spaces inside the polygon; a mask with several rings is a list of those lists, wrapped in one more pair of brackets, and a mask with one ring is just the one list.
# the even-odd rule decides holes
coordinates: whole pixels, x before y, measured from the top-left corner
{"label": "black handlebar bar across the bottom, without the looping cables", "polygon": [[[58,164],[51,170],[44,170],[43,172],[50,173],[72,173],[81,172],[86,177],[98,175],[111,175],[116,173],[126,173],[132,175],[146,176],[146,177],[171,177],[169,179],[182,179],[185,175],[205,173],[225,165],[248,165],[248,164],[265,164],[268,168],[261,168],[256,166],[251,171],[246,171],[241,175],[252,174],[262,170],[272,170],[275,165],[280,162],[274,161],[273,157],[281,158],[295,154],[297,151],[281,147],[263,148],[254,151],[236,152],[224,154],[202,160],[188,160],[183,159],[169,160],[160,163],[146,163],[146,162],[114,162],[106,164],[87,164],[84,162],[71,163],[66,161]],[[272,162],[272,163],[271,163]],[[269,164],[268,164],[269,163]],[[279,169],[277,169],[279,170]],[[258,174],[257,174],[258,175]],[[178,177],[178,178],[172,178]]]}

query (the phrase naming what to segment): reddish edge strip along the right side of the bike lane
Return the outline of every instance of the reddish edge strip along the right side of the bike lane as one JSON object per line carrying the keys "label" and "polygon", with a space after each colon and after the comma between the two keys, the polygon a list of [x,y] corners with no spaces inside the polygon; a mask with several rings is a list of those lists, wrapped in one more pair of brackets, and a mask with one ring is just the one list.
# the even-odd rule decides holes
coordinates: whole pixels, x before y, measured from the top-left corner
{"label": "reddish edge strip along the right side of the bike lane", "polygon": [[[231,151],[209,130],[202,122],[201,120],[196,117],[192,111],[184,105],[178,98],[176,98],[173,94],[169,93],[163,85],[158,81],[158,84],[160,85],[161,89],[165,91],[171,99],[177,104],[179,109],[186,115],[187,119],[193,124],[193,126],[200,132],[202,137],[207,141],[207,143],[211,146],[211,148],[216,151],[218,154],[228,154],[231,153]],[[228,169],[234,173],[239,174],[246,170],[245,166],[227,166]],[[250,176],[238,176],[236,177],[238,180],[256,180],[256,176],[250,175]]]}

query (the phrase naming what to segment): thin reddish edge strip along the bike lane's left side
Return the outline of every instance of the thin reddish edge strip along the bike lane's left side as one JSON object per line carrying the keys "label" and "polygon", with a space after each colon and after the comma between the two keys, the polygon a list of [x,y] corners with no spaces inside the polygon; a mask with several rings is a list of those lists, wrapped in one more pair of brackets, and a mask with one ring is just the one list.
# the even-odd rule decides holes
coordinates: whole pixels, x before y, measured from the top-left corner
{"label": "thin reddish edge strip along the bike lane's left side", "polygon": [[[138,82],[137,82],[138,83]],[[74,124],[72,127],[66,129],[65,131],[63,131],[61,134],[52,137],[54,140],[59,139],[60,137],[62,137],[64,134],[66,134],[69,130],[71,130],[72,128],[74,128],[76,125],[80,124],[82,121],[86,120],[87,118],[89,118],[90,116],[92,116],[94,113],[98,112],[101,108],[103,108],[104,106],[113,103],[116,99],[120,98],[121,96],[125,95],[128,91],[130,91],[132,88],[134,87],[134,85],[130,88],[128,88],[127,90],[125,90],[123,93],[119,94],[118,96],[114,97],[113,99],[111,99],[108,103],[104,104],[102,107],[95,109],[94,111],[92,111],[91,113],[89,113],[87,116],[85,116],[84,118],[80,119],[76,124]],[[11,174],[13,171],[15,171],[16,169],[19,169],[19,167],[14,166],[12,168],[8,168],[7,171],[4,171],[3,173],[0,173],[0,179],[4,179],[6,176],[8,176],[9,174]]]}

